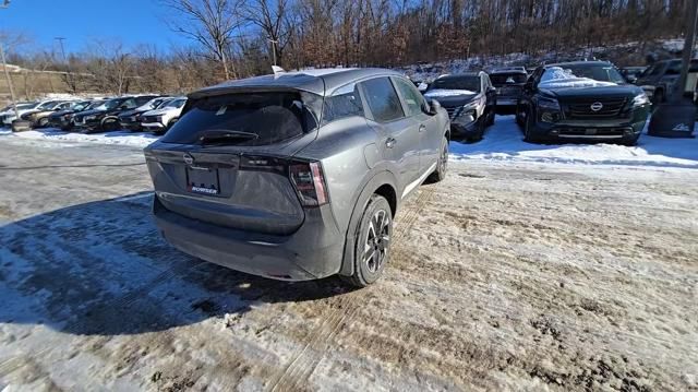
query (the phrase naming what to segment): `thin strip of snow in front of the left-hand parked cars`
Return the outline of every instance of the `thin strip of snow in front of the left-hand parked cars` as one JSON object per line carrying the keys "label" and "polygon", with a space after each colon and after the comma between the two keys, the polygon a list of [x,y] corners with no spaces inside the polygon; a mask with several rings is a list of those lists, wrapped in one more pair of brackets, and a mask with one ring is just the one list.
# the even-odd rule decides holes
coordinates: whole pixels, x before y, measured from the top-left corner
{"label": "thin strip of snow in front of the left-hand parked cars", "polygon": [[[0,134],[12,133],[11,131],[0,130]],[[134,133],[129,131],[113,131],[107,133],[71,133],[62,132],[57,129],[43,129],[34,131],[17,132],[12,134],[16,138],[25,138],[33,140],[48,140],[59,142],[77,142],[77,143],[99,143],[99,144],[120,144],[136,147],[145,147],[158,139],[151,133]]]}

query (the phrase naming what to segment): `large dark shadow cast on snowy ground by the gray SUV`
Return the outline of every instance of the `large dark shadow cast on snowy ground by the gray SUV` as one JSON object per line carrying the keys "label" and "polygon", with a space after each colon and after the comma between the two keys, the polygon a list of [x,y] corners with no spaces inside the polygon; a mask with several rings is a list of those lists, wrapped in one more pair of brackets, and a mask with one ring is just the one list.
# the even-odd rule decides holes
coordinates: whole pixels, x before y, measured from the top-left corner
{"label": "large dark shadow cast on snowy ground by the gray SUV", "polygon": [[135,193],[0,226],[0,323],[139,334],[349,290],[337,278],[278,282],[181,253],[154,225],[152,198]]}

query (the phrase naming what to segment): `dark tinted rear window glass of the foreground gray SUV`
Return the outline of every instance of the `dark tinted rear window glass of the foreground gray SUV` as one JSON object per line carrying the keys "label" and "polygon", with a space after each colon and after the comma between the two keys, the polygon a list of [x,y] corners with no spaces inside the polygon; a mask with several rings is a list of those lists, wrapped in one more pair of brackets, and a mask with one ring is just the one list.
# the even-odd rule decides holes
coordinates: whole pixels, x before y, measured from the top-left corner
{"label": "dark tinted rear window glass of the foreground gray SUV", "polygon": [[163,136],[165,143],[196,144],[210,132],[254,133],[237,145],[266,145],[299,136],[316,127],[301,93],[238,93],[193,99]]}

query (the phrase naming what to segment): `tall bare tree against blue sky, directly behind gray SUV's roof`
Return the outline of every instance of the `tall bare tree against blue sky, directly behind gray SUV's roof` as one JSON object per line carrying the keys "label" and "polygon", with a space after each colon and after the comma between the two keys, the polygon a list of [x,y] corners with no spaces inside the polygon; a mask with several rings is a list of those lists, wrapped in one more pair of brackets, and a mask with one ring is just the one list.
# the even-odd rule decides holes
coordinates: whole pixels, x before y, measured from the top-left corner
{"label": "tall bare tree against blue sky, directly behind gray SUV's roof", "polygon": [[233,33],[244,24],[243,0],[163,0],[184,20],[170,21],[174,32],[202,45],[222,66],[225,79],[237,78],[230,60]]}

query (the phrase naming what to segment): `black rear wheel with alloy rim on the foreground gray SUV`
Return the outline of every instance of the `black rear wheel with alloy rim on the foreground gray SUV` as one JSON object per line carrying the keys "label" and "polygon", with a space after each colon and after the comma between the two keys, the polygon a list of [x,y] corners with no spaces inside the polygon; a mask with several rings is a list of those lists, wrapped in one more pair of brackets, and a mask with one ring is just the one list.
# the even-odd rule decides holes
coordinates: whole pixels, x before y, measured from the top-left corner
{"label": "black rear wheel with alloy rim on the foreground gray SUV", "polygon": [[390,204],[384,197],[380,194],[371,197],[354,238],[353,274],[341,276],[341,278],[352,286],[365,287],[383,275],[390,254],[393,213]]}

